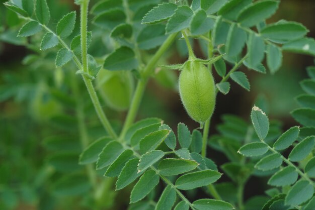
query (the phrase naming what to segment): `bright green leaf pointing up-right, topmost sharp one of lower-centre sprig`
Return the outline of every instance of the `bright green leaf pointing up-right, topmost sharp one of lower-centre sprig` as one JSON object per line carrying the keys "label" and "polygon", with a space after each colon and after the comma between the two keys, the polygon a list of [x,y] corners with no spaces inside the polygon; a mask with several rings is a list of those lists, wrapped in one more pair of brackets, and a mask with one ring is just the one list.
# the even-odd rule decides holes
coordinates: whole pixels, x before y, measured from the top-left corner
{"label": "bright green leaf pointing up-right, topmost sharp one of lower-centre sprig", "polygon": [[139,146],[142,154],[151,152],[156,149],[169,135],[170,130],[160,130],[155,131],[146,135],[143,139],[140,140]]}

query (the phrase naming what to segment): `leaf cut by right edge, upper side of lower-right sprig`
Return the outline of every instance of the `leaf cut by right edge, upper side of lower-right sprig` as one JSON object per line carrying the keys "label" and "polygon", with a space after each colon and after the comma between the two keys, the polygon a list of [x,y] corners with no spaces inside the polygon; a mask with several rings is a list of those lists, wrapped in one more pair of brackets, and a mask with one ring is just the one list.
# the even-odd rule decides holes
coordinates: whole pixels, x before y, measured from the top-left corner
{"label": "leaf cut by right edge, upper side of lower-right sprig", "polygon": [[289,154],[289,160],[294,162],[303,160],[312,151],[314,146],[315,137],[306,137],[293,148],[293,150]]}

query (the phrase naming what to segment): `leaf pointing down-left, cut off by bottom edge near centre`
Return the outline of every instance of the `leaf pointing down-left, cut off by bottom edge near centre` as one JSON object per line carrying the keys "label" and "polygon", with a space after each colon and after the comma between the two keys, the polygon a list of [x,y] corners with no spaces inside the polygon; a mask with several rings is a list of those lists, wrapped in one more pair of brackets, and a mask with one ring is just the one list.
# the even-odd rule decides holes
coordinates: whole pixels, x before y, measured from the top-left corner
{"label": "leaf pointing down-left, cut off by bottom edge near centre", "polygon": [[172,210],[175,200],[176,191],[171,185],[168,185],[164,189],[159,201],[157,201],[155,210]]}

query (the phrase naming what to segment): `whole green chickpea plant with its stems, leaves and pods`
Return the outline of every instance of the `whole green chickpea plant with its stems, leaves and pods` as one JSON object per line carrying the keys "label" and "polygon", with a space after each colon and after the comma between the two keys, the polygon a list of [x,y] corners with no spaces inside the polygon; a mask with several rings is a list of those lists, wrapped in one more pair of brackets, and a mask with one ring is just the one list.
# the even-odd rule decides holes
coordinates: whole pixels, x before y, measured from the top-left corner
{"label": "whole green chickpea plant with its stems, leaves and pods", "polygon": [[[315,41],[305,37],[308,30],[303,25],[285,20],[266,24],[280,1],[103,0],[95,1],[91,10],[89,0],[76,0],[75,4],[80,7],[80,18],[73,11],[55,24],[46,0],[4,3],[25,21],[18,36],[34,37],[29,41],[35,54],[47,55],[48,49],[57,49],[56,72],[68,69],[64,70],[66,85],[74,99],[56,92],[55,96],[74,107],[74,127],[82,151],[80,156],[65,153],[62,145],[72,145],[67,138],[45,140],[48,148],[57,150],[48,157],[48,163],[59,172],[52,184],[56,194],[89,197],[89,204],[85,204],[89,209],[113,209],[113,201],[109,200],[120,196],[124,188],[130,191],[130,205],[121,209],[315,209],[315,67],[307,69],[310,79],[301,82],[306,94],[296,99],[302,108],[291,113],[300,126],[282,134],[279,124],[269,121],[262,109],[254,106],[251,123],[223,115],[223,123],[217,127],[219,135],[209,137],[216,95],[228,94],[230,81],[250,90],[246,72],[238,71],[241,65],[267,73],[263,65],[266,57],[273,74],[281,67],[282,51],[315,56]],[[73,34],[77,24],[80,33]],[[102,34],[107,34],[102,40],[113,50],[106,55],[88,54],[94,37]],[[161,63],[179,40],[186,42],[188,60],[182,64]],[[206,59],[196,57],[192,40],[202,45]],[[135,122],[146,84],[156,74],[156,67],[167,68],[166,72],[180,71],[183,107],[199,128],[190,131],[179,123],[175,134],[168,122],[159,118]],[[213,74],[221,80],[214,81]],[[80,89],[79,76],[87,91]],[[39,85],[37,94],[49,89]],[[107,133],[93,142],[85,123],[84,92],[89,93]],[[120,133],[109,121],[110,114],[104,112],[103,101],[112,110],[127,111]],[[34,104],[39,106],[40,99]],[[38,112],[38,118],[46,117],[42,120],[58,123],[60,119],[51,116],[60,112],[59,106],[51,101],[41,110],[34,108],[34,112]],[[207,157],[207,150],[222,152],[229,162],[217,167]],[[220,181],[223,174],[230,181]],[[270,188],[245,202],[244,187],[251,176],[269,177],[266,184]],[[207,196],[188,199],[187,194],[197,190]]]}

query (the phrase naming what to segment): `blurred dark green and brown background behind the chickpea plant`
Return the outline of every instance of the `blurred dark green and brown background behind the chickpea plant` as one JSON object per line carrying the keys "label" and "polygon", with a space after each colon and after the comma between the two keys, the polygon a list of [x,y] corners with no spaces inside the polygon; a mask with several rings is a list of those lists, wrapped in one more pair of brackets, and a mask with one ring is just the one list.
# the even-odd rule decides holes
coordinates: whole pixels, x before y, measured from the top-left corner
{"label": "blurred dark green and brown background behind the chickpea plant", "polygon": [[[51,27],[55,27],[57,20],[67,12],[79,12],[79,8],[70,0],[47,2],[51,12]],[[91,1],[91,5],[95,2],[97,1]],[[313,0],[282,1],[277,14],[269,21],[276,22],[281,19],[302,23],[310,31],[308,36],[315,37]],[[82,151],[81,146],[77,144],[79,131],[75,103],[78,98],[81,98],[84,106],[90,141],[106,135],[96,117],[85,86],[80,76],[74,74],[77,69],[73,64],[55,68],[56,49],[39,52],[43,34],[31,38],[16,37],[23,21],[12,11],[5,9],[3,4],[0,4],[0,21],[0,209],[85,209],[85,206],[92,202],[91,196],[69,198],[64,195],[73,195],[80,190],[69,192],[60,187],[60,182],[64,181],[60,181],[62,174],[76,171],[79,174],[75,174],[76,178],[82,182],[80,189],[89,190],[88,180],[80,176],[82,167],[76,164],[77,155]],[[102,59],[113,50],[114,44],[108,40],[108,33],[92,24],[89,28],[93,31],[89,53]],[[78,24],[73,35],[76,34]],[[205,57],[203,47],[203,42],[194,41],[194,50],[200,58]],[[168,52],[168,58],[162,59],[162,62],[180,63],[186,58],[186,46],[181,40],[173,45]],[[289,113],[297,108],[294,97],[302,93],[299,81],[307,77],[305,67],[312,65],[313,61],[311,56],[284,53],[283,65],[274,75],[268,71],[267,74],[260,74],[242,67],[241,70],[249,77],[251,91],[231,82],[231,90],[227,95],[218,94],[210,135],[218,133],[216,128],[222,123],[223,114],[236,115],[249,121],[255,101],[264,104],[270,119],[282,122],[282,130],[296,125]],[[191,130],[197,128],[199,125],[188,117],[181,104],[177,90],[178,72],[157,70],[159,73],[150,79],[146,88],[137,119],[159,117],[174,131],[177,130],[179,122],[185,123]],[[219,81],[218,75],[214,73],[214,76],[215,80]],[[76,96],[73,88],[78,90]],[[119,131],[126,112],[112,110],[102,98],[101,102],[110,121]],[[67,147],[61,144],[63,139],[67,139]],[[60,142],[62,146],[56,146],[56,142]],[[60,166],[63,156],[59,153],[56,155],[57,150],[66,150],[63,155],[72,157],[72,162],[65,163],[66,167]],[[218,165],[226,162],[221,153],[209,149],[208,154]],[[255,178],[250,182],[254,183]],[[110,184],[104,187],[111,188]],[[54,193],[51,193],[52,189]],[[255,190],[247,187],[246,197],[263,193],[264,190],[263,187],[260,189],[259,184],[256,184]],[[104,209],[125,209],[128,193],[124,198],[125,204],[122,202],[121,205],[112,207],[115,193],[106,195],[107,203]],[[113,199],[109,199],[110,197]],[[80,207],[74,207],[73,203]]]}

